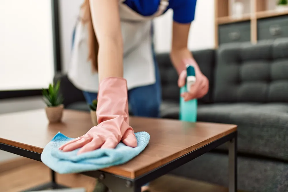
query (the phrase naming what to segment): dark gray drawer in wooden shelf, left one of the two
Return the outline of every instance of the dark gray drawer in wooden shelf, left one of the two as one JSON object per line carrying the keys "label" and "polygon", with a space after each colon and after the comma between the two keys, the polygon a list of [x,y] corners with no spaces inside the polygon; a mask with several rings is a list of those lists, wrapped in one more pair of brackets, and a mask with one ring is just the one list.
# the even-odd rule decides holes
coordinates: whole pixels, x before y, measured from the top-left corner
{"label": "dark gray drawer in wooden shelf, left one of the two", "polygon": [[219,45],[250,41],[250,21],[219,25]]}

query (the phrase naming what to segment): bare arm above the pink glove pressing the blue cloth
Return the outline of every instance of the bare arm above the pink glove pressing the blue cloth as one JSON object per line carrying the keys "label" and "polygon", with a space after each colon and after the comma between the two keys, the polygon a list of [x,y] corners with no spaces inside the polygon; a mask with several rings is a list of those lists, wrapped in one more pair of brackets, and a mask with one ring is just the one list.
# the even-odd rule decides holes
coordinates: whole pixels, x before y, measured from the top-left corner
{"label": "bare arm above the pink glove pressing the blue cloth", "polygon": [[92,23],[99,44],[99,82],[123,77],[123,40],[118,0],[90,0]]}

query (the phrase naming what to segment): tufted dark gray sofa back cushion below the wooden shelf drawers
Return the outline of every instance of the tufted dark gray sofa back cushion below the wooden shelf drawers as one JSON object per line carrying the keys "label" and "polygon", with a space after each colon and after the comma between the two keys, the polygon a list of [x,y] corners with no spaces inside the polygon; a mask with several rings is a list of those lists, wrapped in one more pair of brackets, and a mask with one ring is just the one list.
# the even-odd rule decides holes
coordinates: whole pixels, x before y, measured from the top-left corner
{"label": "tufted dark gray sofa back cushion below the wooden shelf drawers", "polygon": [[218,50],[215,102],[288,102],[288,38]]}

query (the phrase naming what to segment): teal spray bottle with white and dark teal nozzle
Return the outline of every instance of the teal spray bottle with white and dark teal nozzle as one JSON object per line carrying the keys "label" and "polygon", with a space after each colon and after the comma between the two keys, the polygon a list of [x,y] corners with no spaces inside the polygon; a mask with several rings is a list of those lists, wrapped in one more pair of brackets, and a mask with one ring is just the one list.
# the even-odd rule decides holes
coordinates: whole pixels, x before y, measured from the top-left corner
{"label": "teal spray bottle with white and dark teal nozzle", "polygon": [[[185,86],[180,88],[180,94],[189,92],[191,85],[196,82],[195,69],[191,65],[186,65],[187,78]],[[179,119],[181,121],[197,121],[197,99],[184,101],[183,97],[180,97],[180,114]]]}

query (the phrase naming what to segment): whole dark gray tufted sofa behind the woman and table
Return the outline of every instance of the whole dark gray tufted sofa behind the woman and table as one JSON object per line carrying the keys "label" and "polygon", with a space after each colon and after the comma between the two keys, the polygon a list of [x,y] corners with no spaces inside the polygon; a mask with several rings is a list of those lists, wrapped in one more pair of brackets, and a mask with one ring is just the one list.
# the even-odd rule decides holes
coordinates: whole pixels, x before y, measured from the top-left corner
{"label": "whole dark gray tufted sofa behind the woman and table", "polygon": [[[198,121],[238,125],[238,187],[245,191],[288,191],[288,39],[237,43],[193,52],[210,90],[198,100]],[[168,54],[158,54],[161,117],[178,119],[177,73]],[[65,107],[89,110],[82,92],[61,79]],[[226,146],[171,172],[228,185]]]}

